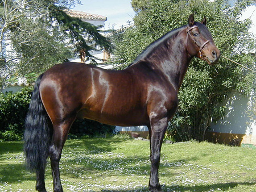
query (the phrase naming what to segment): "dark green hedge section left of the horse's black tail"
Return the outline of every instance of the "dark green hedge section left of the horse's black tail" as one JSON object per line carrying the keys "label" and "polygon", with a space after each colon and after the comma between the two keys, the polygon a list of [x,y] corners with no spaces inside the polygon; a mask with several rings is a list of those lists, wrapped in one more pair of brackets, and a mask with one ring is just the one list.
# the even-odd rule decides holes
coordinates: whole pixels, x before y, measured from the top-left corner
{"label": "dark green hedge section left of the horse's black tail", "polygon": [[32,87],[0,95],[0,140],[21,140]]}

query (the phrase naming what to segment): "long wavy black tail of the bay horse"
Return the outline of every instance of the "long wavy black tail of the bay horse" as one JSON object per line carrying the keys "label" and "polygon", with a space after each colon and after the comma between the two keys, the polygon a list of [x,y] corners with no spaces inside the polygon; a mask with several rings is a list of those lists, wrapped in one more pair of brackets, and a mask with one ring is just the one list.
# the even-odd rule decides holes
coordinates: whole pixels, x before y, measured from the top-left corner
{"label": "long wavy black tail of the bay horse", "polygon": [[31,171],[45,168],[49,155],[49,144],[51,143],[49,117],[39,94],[42,77],[43,74],[35,82],[25,122],[24,154],[26,156],[26,166]]}

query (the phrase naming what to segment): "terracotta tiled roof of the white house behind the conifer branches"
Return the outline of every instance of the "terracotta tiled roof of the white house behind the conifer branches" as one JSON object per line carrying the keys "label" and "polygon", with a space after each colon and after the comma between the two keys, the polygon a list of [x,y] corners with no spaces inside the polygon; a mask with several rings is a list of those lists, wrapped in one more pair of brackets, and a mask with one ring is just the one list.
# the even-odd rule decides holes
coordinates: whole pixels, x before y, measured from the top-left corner
{"label": "terracotta tiled roof of the white house behind the conifer branches", "polygon": [[72,17],[86,20],[107,20],[106,16],[90,14],[88,12],[76,11],[76,10],[65,10],[65,12]]}

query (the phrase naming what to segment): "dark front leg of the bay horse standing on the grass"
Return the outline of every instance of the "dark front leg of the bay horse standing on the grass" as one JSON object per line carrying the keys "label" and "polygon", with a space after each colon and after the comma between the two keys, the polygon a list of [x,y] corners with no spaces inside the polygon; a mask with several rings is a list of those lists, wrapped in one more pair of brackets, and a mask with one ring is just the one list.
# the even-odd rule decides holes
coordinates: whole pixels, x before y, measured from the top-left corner
{"label": "dark front leg of the bay horse standing on the grass", "polygon": [[150,181],[148,188],[150,191],[162,191],[159,183],[158,169],[160,164],[160,151],[163,143],[164,133],[167,128],[167,120],[162,119],[156,123],[151,123],[150,130]]}

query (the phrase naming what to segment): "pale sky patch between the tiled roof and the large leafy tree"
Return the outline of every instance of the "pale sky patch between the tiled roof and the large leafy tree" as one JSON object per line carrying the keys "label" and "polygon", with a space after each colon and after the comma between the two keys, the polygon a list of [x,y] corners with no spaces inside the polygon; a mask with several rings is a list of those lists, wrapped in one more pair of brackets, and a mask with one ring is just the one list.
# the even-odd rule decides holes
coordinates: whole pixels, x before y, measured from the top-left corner
{"label": "pale sky patch between the tiled roof and the large leafy tree", "polygon": [[128,20],[133,21],[135,15],[131,0],[81,0],[81,3],[73,10],[106,16],[105,30],[113,25],[115,29],[125,26]]}

